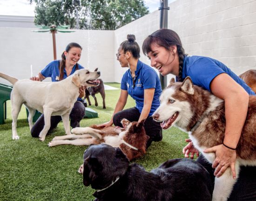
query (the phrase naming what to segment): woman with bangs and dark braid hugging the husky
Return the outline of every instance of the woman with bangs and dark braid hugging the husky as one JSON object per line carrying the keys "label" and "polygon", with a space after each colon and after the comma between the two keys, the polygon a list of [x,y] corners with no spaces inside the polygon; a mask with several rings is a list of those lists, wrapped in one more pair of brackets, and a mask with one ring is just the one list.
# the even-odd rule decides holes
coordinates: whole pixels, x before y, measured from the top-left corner
{"label": "woman with bangs and dark braid hugging the husky", "polygon": [[[212,177],[221,176],[228,167],[231,167],[233,177],[236,177],[235,148],[246,119],[249,95],[255,95],[255,93],[220,61],[185,54],[181,39],[173,30],[160,29],[152,33],[144,40],[142,50],[151,60],[151,66],[163,76],[173,74],[176,76],[176,81],[180,82],[189,76],[195,85],[224,100],[226,130],[223,143],[227,146],[220,144],[204,150],[205,153],[216,153],[212,167],[202,158],[203,156],[199,156],[199,151],[194,148],[189,139],[186,140],[188,145],[184,147],[183,154],[185,157],[190,155],[192,159],[194,154],[199,156],[197,161],[209,170]],[[255,167],[242,167],[229,201],[256,200],[255,172]]]}

